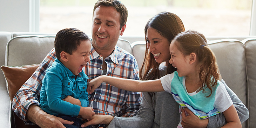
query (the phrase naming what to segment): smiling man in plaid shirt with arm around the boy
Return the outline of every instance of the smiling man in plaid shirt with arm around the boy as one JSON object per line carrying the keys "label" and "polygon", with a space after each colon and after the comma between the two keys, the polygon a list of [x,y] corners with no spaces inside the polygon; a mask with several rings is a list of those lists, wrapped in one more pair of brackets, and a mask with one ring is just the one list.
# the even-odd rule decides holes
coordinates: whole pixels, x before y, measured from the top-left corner
{"label": "smiling man in plaid shirt with arm around the boy", "polygon": [[[126,28],[127,9],[117,0],[99,0],[93,10],[92,47],[90,61],[85,67],[89,80],[100,75],[139,80],[139,69],[134,57],[116,46],[119,35]],[[27,124],[41,128],[64,128],[72,124],[39,108],[39,91],[46,69],[55,60],[53,49],[31,78],[21,87],[13,100],[14,112]],[[88,96],[89,107],[95,114],[132,117],[140,106],[141,93],[115,88],[106,83]]]}

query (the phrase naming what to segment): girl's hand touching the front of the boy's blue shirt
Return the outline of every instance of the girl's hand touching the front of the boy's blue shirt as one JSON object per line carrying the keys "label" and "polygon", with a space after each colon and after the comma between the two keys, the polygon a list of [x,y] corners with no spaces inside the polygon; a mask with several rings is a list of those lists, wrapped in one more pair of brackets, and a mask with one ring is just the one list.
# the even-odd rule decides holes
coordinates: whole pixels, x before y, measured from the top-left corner
{"label": "girl's hand touching the front of the boy's blue shirt", "polygon": [[87,85],[87,92],[89,94],[92,94],[95,91],[95,89],[101,85],[102,81],[102,76],[98,76],[97,78],[90,80],[90,82]]}

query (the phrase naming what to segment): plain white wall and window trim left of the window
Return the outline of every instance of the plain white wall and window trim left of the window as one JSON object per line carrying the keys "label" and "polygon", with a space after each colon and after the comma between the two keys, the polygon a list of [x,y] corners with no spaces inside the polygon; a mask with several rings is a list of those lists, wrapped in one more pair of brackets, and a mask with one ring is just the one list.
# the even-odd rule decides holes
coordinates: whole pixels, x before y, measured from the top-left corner
{"label": "plain white wall and window trim left of the window", "polygon": [[39,32],[39,0],[0,0],[0,31]]}

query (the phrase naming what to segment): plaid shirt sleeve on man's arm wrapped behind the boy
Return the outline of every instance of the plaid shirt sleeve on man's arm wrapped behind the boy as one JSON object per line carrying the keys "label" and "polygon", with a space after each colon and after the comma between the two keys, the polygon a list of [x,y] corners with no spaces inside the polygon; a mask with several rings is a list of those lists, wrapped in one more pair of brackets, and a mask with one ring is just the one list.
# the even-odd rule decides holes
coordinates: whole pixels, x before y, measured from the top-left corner
{"label": "plaid shirt sleeve on man's arm wrapped behind the boy", "polygon": [[33,75],[22,85],[13,98],[13,111],[26,124],[33,124],[26,119],[26,113],[30,105],[39,106],[42,79],[46,69],[52,65],[56,58],[55,49],[52,49]]}

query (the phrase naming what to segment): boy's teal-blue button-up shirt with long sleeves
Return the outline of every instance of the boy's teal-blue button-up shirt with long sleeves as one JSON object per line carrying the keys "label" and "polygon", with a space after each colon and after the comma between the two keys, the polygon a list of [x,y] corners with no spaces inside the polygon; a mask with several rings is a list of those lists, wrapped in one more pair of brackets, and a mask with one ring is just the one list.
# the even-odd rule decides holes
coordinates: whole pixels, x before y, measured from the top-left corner
{"label": "boy's teal-blue button-up shirt with long sleeves", "polygon": [[82,107],[88,106],[88,76],[81,72],[75,76],[58,59],[46,70],[40,91],[40,108],[48,114],[78,116],[80,106],[63,101],[68,95],[79,99]]}

